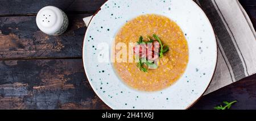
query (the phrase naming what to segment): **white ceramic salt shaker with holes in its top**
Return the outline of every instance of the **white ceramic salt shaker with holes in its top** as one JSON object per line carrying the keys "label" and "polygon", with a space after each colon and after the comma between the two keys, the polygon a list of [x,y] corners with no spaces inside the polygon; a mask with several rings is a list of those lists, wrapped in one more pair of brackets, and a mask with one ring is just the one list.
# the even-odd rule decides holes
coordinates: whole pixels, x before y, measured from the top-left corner
{"label": "white ceramic salt shaker with holes in its top", "polygon": [[68,17],[57,7],[43,7],[36,15],[38,28],[48,35],[61,35],[68,28]]}

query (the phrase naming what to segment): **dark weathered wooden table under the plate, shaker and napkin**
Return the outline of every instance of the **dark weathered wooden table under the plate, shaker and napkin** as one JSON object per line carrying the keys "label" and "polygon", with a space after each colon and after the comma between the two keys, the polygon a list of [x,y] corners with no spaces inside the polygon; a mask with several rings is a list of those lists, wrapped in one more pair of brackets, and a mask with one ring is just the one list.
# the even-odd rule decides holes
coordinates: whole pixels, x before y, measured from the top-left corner
{"label": "dark weathered wooden table under the plate, shaker and napkin", "polygon": [[[90,87],[82,66],[82,18],[105,0],[0,0],[0,109],[110,109]],[[256,1],[241,0],[256,25]],[[43,34],[35,23],[44,6],[68,14],[67,32]],[[256,74],[210,93],[191,109],[256,109]]]}

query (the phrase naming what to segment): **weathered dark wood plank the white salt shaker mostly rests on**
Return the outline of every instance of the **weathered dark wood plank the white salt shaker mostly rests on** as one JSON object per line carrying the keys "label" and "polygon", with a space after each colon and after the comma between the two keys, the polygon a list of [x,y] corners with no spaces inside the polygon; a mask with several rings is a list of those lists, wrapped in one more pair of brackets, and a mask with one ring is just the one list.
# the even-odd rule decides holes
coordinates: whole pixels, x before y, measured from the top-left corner
{"label": "weathered dark wood plank the white salt shaker mostly rests on", "polygon": [[0,17],[0,59],[81,57],[85,24],[92,14],[72,14],[67,32],[48,36],[36,26],[35,16]]}

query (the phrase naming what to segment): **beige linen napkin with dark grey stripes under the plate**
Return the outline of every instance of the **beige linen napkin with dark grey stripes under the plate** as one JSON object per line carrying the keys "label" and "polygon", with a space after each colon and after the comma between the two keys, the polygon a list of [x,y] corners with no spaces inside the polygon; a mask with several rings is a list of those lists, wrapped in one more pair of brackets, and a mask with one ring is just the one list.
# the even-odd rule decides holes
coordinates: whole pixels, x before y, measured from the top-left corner
{"label": "beige linen napkin with dark grey stripes under the plate", "polygon": [[[204,95],[256,73],[256,34],[237,0],[194,0],[212,23],[218,44],[216,72]],[[92,16],[84,18],[88,26]]]}

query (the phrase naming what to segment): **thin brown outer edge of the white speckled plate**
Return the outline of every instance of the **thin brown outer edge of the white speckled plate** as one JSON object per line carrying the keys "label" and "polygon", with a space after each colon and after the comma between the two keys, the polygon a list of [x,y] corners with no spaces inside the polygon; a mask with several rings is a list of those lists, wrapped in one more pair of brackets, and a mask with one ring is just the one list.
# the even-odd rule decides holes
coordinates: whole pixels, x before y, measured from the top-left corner
{"label": "thin brown outer edge of the white speckled plate", "polygon": [[[101,5],[101,7],[103,7],[103,6],[105,5],[105,3],[108,2],[108,1],[109,1],[109,0],[106,0],[106,1]],[[193,1],[193,0],[189,0],[189,1],[192,1],[192,3],[193,3],[195,6],[197,6],[197,7],[199,8],[199,10],[203,13],[204,17],[207,18],[208,24],[210,24],[210,28],[209,28],[209,29],[212,31],[212,34],[215,35],[214,30],[213,30],[213,27],[212,27],[212,24],[210,23],[210,20],[208,19],[208,17],[207,17],[207,15],[205,14],[205,12],[201,9],[201,7],[200,7],[199,5],[197,5],[197,3],[196,3],[195,1]],[[92,18],[90,18],[87,28],[89,28],[90,22],[92,22],[94,16],[96,16],[97,13],[101,10],[101,7],[100,7],[100,9],[98,9],[98,10],[92,15]],[[86,36],[86,33],[87,33],[87,28],[86,28],[85,36]],[[84,36],[83,47],[82,47],[82,61],[83,61],[82,64],[83,64],[84,69],[85,69],[86,77],[88,78],[88,81],[89,81],[89,77],[87,76],[87,75],[88,75],[88,72],[86,71],[85,61],[84,61],[84,60],[85,60],[85,59],[84,59],[84,58],[85,58],[85,56],[84,56],[84,53],[85,53],[85,49],[84,49],[84,48],[85,48],[85,36]],[[215,66],[214,66],[214,70],[213,70],[213,73],[212,73],[212,77],[211,77],[211,79],[210,79],[210,81],[209,81],[209,83],[208,83],[207,88],[205,88],[204,93],[205,93],[205,91],[207,91],[208,87],[210,86],[210,83],[211,83],[212,80],[213,80],[213,76],[214,76],[214,74],[216,73],[216,68],[217,68],[218,43],[217,43],[217,40],[216,40],[216,36],[214,36],[214,40],[215,40],[216,50],[217,50],[216,53],[215,53],[215,55],[216,55],[215,57],[216,57],[216,58],[214,59],[214,60],[215,60]],[[99,97],[102,101],[104,101],[104,98],[102,98],[101,95],[98,94],[98,92],[95,90],[95,87],[91,84],[90,81],[89,81],[89,84],[90,84],[90,86],[92,87],[92,89],[94,90],[94,92],[98,95],[98,97]],[[187,106],[185,109],[189,109],[189,108],[191,108],[193,105],[195,105],[195,103],[198,102],[198,101],[203,97],[203,94],[204,94],[204,93],[202,93],[201,96],[200,96],[199,98],[197,98],[195,101],[191,102],[191,105]],[[109,106],[110,108],[113,109],[113,107],[112,107],[108,102],[105,102],[105,101],[104,101],[104,103],[105,103],[107,106]]]}

